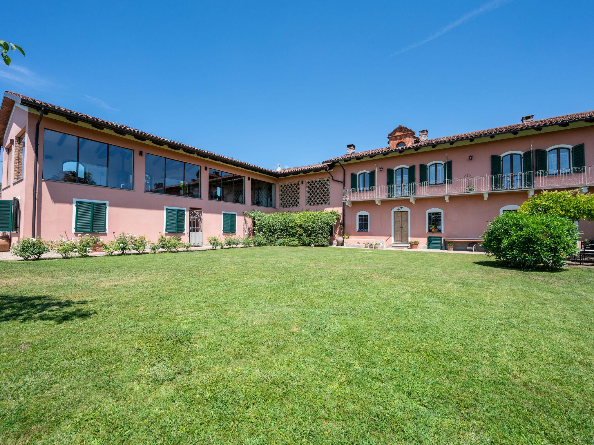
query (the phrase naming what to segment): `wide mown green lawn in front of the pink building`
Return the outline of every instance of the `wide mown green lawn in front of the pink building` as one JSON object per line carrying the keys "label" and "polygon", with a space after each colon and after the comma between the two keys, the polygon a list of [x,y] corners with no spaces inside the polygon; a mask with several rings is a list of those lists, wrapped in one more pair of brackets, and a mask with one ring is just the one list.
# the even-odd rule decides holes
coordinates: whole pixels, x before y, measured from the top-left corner
{"label": "wide mown green lawn in front of the pink building", "polygon": [[591,269],[254,247],[0,277],[3,444],[594,441]]}

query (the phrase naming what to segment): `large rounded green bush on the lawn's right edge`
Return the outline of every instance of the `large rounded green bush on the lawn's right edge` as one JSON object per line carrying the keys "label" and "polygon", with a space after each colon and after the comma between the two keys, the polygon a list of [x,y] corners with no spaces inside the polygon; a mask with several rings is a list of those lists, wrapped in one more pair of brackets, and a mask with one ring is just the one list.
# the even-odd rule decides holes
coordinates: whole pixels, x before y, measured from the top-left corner
{"label": "large rounded green bush on the lawn's right edge", "polygon": [[577,253],[579,231],[555,214],[505,212],[489,223],[481,246],[487,255],[517,269],[560,269]]}

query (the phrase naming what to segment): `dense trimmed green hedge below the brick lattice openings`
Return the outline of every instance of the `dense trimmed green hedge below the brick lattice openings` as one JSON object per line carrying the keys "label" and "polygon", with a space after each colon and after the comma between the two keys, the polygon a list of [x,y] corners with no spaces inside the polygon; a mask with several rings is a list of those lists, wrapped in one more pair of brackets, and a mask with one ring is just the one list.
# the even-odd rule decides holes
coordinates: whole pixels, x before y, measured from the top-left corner
{"label": "dense trimmed green hedge below the brick lattice openings", "polygon": [[318,212],[275,212],[257,210],[244,212],[251,218],[256,237],[263,237],[268,244],[289,246],[328,246],[330,231],[339,220],[336,210]]}

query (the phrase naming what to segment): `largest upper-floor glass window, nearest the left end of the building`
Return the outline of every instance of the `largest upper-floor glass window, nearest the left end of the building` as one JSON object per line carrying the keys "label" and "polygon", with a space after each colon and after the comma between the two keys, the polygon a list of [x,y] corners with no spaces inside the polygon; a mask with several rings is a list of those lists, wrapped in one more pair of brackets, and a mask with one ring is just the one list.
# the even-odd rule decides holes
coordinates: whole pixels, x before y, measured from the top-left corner
{"label": "largest upper-floor glass window, nearest the left end of the building", "polygon": [[132,189],[134,152],[57,131],[43,136],[43,179]]}

